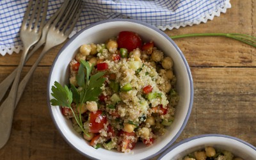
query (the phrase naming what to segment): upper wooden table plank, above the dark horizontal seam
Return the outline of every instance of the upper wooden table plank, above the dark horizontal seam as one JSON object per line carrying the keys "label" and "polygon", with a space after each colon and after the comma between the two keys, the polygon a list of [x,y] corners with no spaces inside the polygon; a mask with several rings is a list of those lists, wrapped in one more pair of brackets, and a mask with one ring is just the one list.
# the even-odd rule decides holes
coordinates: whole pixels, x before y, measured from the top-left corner
{"label": "upper wooden table plank, above the dark horizontal seam", "polygon": [[[248,3],[249,2],[249,3]],[[214,17],[206,24],[188,26],[186,28],[164,31],[167,35],[182,35],[187,33],[244,33],[256,36],[256,1],[231,1],[232,8],[220,17]],[[246,11],[246,12],[244,12]],[[255,48],[250,45],[223,37],[196,37],[175,40],[181,51],[184,52],[189,65],[203,67],[255,67]],[[41,66],[51,65],[62,45],[54,47],[40,63]],[[39,53],[40,51],[38,51]],[[36,54],[38,55],[38,54]],[[37,56],[33,56],[27,65],[32,65]],[[20,54],[0,57],[1,65],[18,65]]]}

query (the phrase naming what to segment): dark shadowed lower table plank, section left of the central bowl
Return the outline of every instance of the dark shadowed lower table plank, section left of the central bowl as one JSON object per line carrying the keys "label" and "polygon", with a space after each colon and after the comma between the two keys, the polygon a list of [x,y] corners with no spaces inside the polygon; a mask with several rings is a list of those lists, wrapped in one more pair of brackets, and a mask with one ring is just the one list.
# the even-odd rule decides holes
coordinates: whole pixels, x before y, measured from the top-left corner
{"label": "dark shadowed lower table plank, section left of the central bowl", "polygon": [[[13,67],[0,68],[0,80]],[[47,107],[46,86],[50,67],[38,67],[15,110],[10,140],[0,159],[82,159],[63,140]],[[28,67],[24,68],[28,72]]]}

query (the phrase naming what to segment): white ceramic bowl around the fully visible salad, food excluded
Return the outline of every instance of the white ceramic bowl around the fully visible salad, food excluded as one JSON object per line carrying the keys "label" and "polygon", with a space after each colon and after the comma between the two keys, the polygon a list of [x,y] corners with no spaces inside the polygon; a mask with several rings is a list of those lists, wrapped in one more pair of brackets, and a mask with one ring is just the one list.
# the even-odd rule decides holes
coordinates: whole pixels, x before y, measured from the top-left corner
{"label": "white ceramic bowl around the fully visible salad, food excluded", "polygon": [[[49,102],[51,96],[51,86],[54,81],[60,84],[68,84],[69,62],[74,58],[77,49],[83,44],[106,42],[109,37],[117,36],[120,31],[134,31],[138,33],[142,40],[154,40],[154,44],[165,54],[171,56],[174,62],[174,72],[177,76],[177,88],[180,95],[179,105],[175,113],[175,120],[168,127],[168,132],[161,138],[154,141],[154,145],[145,147],[143,143],[136,144],[132,150],[133,154],[124,154],[116,150],[106,150],[104,148],[95,149],[83,140],[83,137],[72,129],[72,123],[61,114],[60,107],[51,106]],[[52,64],[47,85],[47,99],[52,120],[62,134],[63,138],[73,148],[84,156],[94,159],[149,159],[160,154],[169,147],[179,136],[188,122],[193,104],[193,81],[188,63],[177,45],[162,31],[143,22],[131,19],[112,19],[97,22],[92,26],[82,29],[72,36],[65,44],[54,63]]]}

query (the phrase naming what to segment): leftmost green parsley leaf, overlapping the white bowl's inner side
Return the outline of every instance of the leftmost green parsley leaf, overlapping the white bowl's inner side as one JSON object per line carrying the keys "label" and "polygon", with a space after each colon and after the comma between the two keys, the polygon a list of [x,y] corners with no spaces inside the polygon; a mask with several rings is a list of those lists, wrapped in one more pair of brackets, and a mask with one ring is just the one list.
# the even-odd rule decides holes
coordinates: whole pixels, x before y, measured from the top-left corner
{"label": "leftmost green parsley leaf, overlapping the white bowl's inner side", "polygon": [[52,86],[52,93],[51,95],[55,99],[51,99],[52,106],[66,106],[71,108],[72,103],[72,92],[68,90],[68,87],[65,85],[64,87],[61,86],[60,83],[57,81],[54,82],[54,86]]}

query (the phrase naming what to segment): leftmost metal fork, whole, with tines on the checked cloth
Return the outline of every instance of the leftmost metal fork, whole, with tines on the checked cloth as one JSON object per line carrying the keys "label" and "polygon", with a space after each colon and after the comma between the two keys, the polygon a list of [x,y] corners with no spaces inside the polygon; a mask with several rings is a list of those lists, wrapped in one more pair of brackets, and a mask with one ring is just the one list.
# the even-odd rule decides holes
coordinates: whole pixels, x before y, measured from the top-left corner
{"label": "leftmost metal fork, whole, with tines on the checked cloth", "polygon": [[[20,39],[24,45],[24,50],[20,58],[20,63],[10,93],[0,108],[0,148],[3,147],[10,137],[11,127],[6,128],[6,125],[12,125],[13,109],[17,97],[20,73],[30,47],[38,42],[42,34],[42,26],[45,22],[47,5],[48,0],[36,0],[34,5],[33,1],[29,1],[28,8],[20,27]],[[43,13],[42,10],[44,10]]]}

